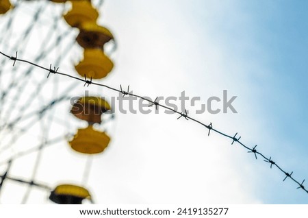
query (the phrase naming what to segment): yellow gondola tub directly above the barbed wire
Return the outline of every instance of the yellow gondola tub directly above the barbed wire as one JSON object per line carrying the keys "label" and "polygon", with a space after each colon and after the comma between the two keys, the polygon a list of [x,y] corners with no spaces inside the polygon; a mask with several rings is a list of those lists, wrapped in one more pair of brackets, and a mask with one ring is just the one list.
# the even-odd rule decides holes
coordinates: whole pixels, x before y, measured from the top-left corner
{"label": "yellow gondola tub directly above the barbed wire", "polygon": [[112,68],[114,63],[110,60],[101,49],[85,49],[84,60],[75,66],[79,75],[93,79],[101,79],[105,77]]}

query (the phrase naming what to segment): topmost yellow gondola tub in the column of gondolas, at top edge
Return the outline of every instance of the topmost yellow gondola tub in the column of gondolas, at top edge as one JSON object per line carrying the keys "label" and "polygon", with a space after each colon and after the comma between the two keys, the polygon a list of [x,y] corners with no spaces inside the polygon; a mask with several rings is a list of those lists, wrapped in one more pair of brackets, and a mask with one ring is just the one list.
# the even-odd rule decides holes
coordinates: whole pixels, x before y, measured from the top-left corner
{"label": "topmost yellow gondola tub in the column of gondolas, at top edge", "polygon": [[99,12],[93,8],[90,1],[72,1],[72,9],[64,15],[65,21],[72,27],[79,27],[81,23],[96,22]]}

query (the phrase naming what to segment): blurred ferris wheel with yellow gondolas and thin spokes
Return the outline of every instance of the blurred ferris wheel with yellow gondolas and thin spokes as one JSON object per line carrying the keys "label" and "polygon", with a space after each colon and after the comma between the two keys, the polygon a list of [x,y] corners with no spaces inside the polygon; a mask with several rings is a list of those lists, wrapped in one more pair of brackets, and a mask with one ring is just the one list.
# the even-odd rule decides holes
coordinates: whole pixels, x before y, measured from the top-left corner
{"label": "blurred ferris wheel with yellow gondolas and thin spokes", "polygon": [[[36,190],[57,204],[81,204],[84,199],[93,202],[84,186],[92,158],[110,144],[107,130],[114,119],[113,108],[98,94],[101,88],[80,93],[76,81],[62,80],[52,73],[60,66],[92,81],[112,71],[110,56],[116,43],[110,30],[98,22],[102,5],[101,0],[0,0],[0,50],[14,53],[15,58],[50,64],[46,74],[34,66],[16,62],[12,66],[8,58],[0,59],[1,202],[10,195],[11,184],[22,190],[11,201],[17,201],[14,203],[27,203]],[[66,154],[49,156],[51,147],[61,147]],[[66,158],[74,155],[78,157],[72,162]],[[67,167],[44,172],[40,179],[44,165],[61,161],[60,165],[75,172],[77,166],[84,165],[77,171],[82,181],[68,178]],[[50,182],[55,173],[70,182]]]}

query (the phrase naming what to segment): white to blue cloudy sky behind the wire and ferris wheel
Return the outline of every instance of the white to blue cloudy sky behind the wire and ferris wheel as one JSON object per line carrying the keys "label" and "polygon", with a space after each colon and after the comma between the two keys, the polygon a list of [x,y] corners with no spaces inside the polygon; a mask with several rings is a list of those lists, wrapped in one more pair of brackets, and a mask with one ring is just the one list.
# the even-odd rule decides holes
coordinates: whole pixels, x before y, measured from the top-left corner
{"label": "white to blue cloudy sky behind the wire and ferris wheel", "polygon": [[[62,13],[60,5],[43,1],[31,4],[36,6],[18,8],[16,16],[25,22],[30,18],[31,22],[34,8],[44,4],[54,14],[40,17],[27,46],[18,44],[19,56],[28,60],[34,60],[40,45],[44,45],[42,39],[48,36],[45,28]],[[294,171],[294,178],[302,182],[308,175],[307,6],[306,1],[105,0],[98,23],[110,28],[117,49],[111,56],[114,70],[98,82],[115,88],[129,85],[134,94],[152,99],[179,97],[182,91],[189,97],[201,97],[195,107],[185,106],[190,116],[203,123],[211,122],[227,134],[238,132],[242,143],[257,145],[258,152],[271,156],[285,171]],[[66,5],[64,10],[68,8]],[[0,19],[8,19],[5,16]],[[23,33],[21,19],[14,21],[12,31],[16,34],[0,43],[0,50],[10,54],[16,50],[12,42],[21,35],[18,32]],[[51,46],[57,34],[70,29],[64,21],[58,22]],[[82,58],[82,50],[74,45],[66,51],[77,33],[72,30],[40,64],[48,67],[59,58],[61,71],[77,75],[73,65]],[[5,73],[0,77],[1,91],[8,88],[5,81],[12,77],[11,64],[5,64]],[[25,64],[18,67],[16,75],[26,69]],[[84,84],[65,77],[55,75],[47,80],[38,70],[31,71],[28,81],[29,86],[18,101],[21,107],[29,102],[23,95],[31,96],[28,93],[36,92],[38,84],[46,81],[40,93],[34,95],[29,111],[63,93],[81,96],[88,90],[91,95],[107,99],[118,96],[106,88],[84,88]],[[70,84],[74,88],[66,90]],[[223,90],[229,97],[237,96],[233,106],[238,113],[229,110],[196,114],[197,106],[206,104],[209,97],[222,98]],[[138,101],[133,105],[138,106]],[[215,106],[221,108],[222,104]],[[296,189],[297,184],[291,180],[283,182],[285,175],[277,168],[270,169],[260,156],[255,160],[243,147],[231,145],[228,138],[214,132],[207,136],[207,130],[198,123],[177,120],[177,115],[166,114],[162,108],[159,113],[152,108],[150,114],[123,114],[118,102],[115,107],[116,119],[96,127],[106,130],[112,141],[103,154],[92,157],[87,181],[83,176],[89,158],[73,152],[67,143],[69,137],[64,137],[84,128],[86,123],[68,113],[68,101],[47,112],[47,118],[29,128],[12,149],[0,153],[0,160],[7,160],[44,138],[60,135],[60,143],[43,149],[35,180],[52,187],[62,182],[85,185],[97,204],[308,203],[307,193]],[[8,119],[18,116],[14,111],[18,107],[6,109],[13,111]],[[7,110],[3,110],[3,116]],[[14,135],[14,131],[8,134]],[[14,160],[10,175],[29,180],[37,156],[34,152]],[[5,171],[5,167],[0,165],[0,171]],[[27,190],[25,185],[5,182],[0,201],[20,204]],[[46,191],[33,188],[27,203],[50,204],[47,198]]]}

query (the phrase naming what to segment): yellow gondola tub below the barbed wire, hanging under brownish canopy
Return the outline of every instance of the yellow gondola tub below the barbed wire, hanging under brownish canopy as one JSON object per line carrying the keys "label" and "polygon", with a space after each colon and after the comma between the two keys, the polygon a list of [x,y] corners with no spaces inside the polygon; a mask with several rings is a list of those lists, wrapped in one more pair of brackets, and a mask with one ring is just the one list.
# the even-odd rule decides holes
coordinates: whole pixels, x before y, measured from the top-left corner
{"label": "yellow gondola tub below the barbed wire, hanging under brownish canopy", "polygon": [[92,125],[79,129],[72,141],[68,142],[70,147],[82,154],[99,154],[110,143],[110,137],[105,132],[93,130]]}

